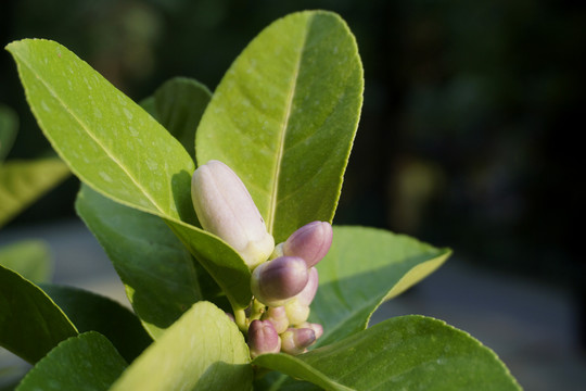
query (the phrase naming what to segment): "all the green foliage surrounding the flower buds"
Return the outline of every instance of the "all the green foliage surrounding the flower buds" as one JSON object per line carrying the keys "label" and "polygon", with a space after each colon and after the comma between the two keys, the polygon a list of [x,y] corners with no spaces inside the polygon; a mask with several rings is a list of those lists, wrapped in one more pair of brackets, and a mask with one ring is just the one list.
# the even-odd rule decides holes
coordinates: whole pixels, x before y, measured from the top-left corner
{"label": "all the green foliage surrounding the flower buds", "polygon": [[[334,227],[317,266],[309,320],[323,326],[318,343],[297,356],[251,358],[239,318],[253,299],[251,270],[201,227],[191,176],[211,160],[226,163],[276,243],[309,222],[332,222],[364,89],[356,40],[339,15],[278,20],[213,93],[175,78],[140,105],[56,42],[7,49],[40,128],[82,181],[76,210],[136,314],[69,288],[43,291],[20,273],[35,281],[46,273],[13,251],[0,266],[0,343],[37,363],[20,390],[519,389],[495,353],[441,320],[369,327],[381,303],[433,273],[450,250],[364,227]],[[11,140],[2,138],[0,159]],[[62,175],[59,164],[42,164],[44,176]],[[7,202],[36,181],[25,166],[0,179],[10,184],[0,190]]]}

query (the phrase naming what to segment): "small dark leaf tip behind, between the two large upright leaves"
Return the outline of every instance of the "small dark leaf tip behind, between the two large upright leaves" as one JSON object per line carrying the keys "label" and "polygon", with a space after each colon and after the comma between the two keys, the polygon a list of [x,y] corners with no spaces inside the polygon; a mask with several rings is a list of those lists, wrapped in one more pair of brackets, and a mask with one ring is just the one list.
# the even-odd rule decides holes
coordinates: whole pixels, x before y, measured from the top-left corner
{"label": "small dark leaf tip behind, between the two large upright leaves", "polygon": [[142,101],[141,106],[167,128],[194,160],[195,129],[209,99],[212,92],[203,84],[187,77],[175,77]]}

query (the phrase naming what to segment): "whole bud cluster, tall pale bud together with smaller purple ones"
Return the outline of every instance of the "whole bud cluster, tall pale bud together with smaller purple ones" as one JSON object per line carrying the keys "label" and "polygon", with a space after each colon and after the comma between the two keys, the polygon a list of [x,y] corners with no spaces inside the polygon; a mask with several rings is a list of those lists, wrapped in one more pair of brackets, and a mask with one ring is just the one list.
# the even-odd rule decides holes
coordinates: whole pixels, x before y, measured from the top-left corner
{"label": "whole bud cluster, tall pale bud together with smaller purple ones", "polygon": [[318,288],[315,265],[330,249],[332,226],[309,223],[275,247],[246,187],[218,161],[195,171],[191,191],[202,227],[230,244],[253,270],[253,302],[247,316],[235,317],[241,329],[247,328],[251,355],[307,351],[323,333],[307,318]]}

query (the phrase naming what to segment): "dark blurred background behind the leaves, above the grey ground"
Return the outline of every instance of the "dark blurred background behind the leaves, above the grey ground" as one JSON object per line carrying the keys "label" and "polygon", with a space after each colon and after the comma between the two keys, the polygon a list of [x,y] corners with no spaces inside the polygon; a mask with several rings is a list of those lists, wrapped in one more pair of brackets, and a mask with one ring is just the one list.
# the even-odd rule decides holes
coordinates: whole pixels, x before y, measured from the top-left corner
{"label": "dark blurred background behind the leaves, above the grey ground", "polygon": [[[335,223],[449,245],[460,262],[561,288],[583,311],[585,2],[3,0],[0,41],[56,40],[140,100],[173,76],[214,90],[257,33],[304,9],[340,13],[365,67]],[[21,121],[9,159],[48,153],[8,52],[0,103]],[[77,187],[68,179],[7,229],[73,217]]]}

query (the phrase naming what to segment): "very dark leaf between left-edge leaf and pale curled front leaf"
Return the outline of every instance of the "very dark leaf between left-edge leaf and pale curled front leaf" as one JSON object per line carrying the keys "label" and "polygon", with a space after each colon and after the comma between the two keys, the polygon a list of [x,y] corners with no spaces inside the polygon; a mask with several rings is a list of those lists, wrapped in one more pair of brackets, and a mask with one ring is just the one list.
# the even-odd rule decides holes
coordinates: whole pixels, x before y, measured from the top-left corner
{"label": "very dark leaf between left-edge leaf and pale curled front leaf", "polygon": [[72,287],[43,285],[41,289],[79,332],[100,332],[129,363],[152,342],[135,314],[109,298]]}

